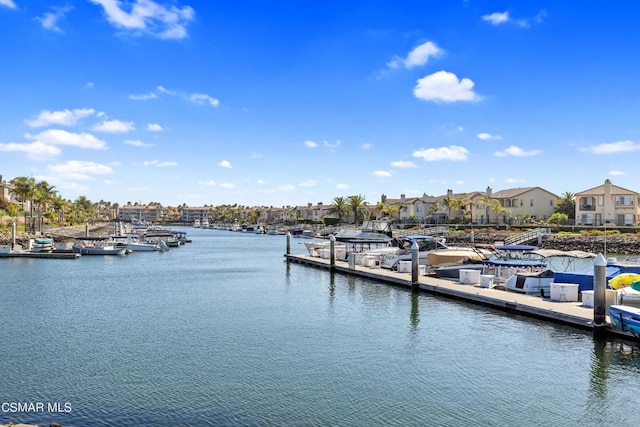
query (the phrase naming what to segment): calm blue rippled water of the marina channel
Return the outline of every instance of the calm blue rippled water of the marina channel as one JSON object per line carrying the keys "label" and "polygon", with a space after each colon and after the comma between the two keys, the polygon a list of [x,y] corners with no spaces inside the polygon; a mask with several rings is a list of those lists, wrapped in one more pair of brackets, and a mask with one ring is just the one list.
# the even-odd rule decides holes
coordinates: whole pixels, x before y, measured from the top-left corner
{"label": "calm blue rippled water of the marina channel", "polygon": [[[636,347],[287,265],[284,236],[188,232],[193,243],[168,253],[0,259],[0,423],[640,419]],[[12,411],[18,402],[33,407]]]}

